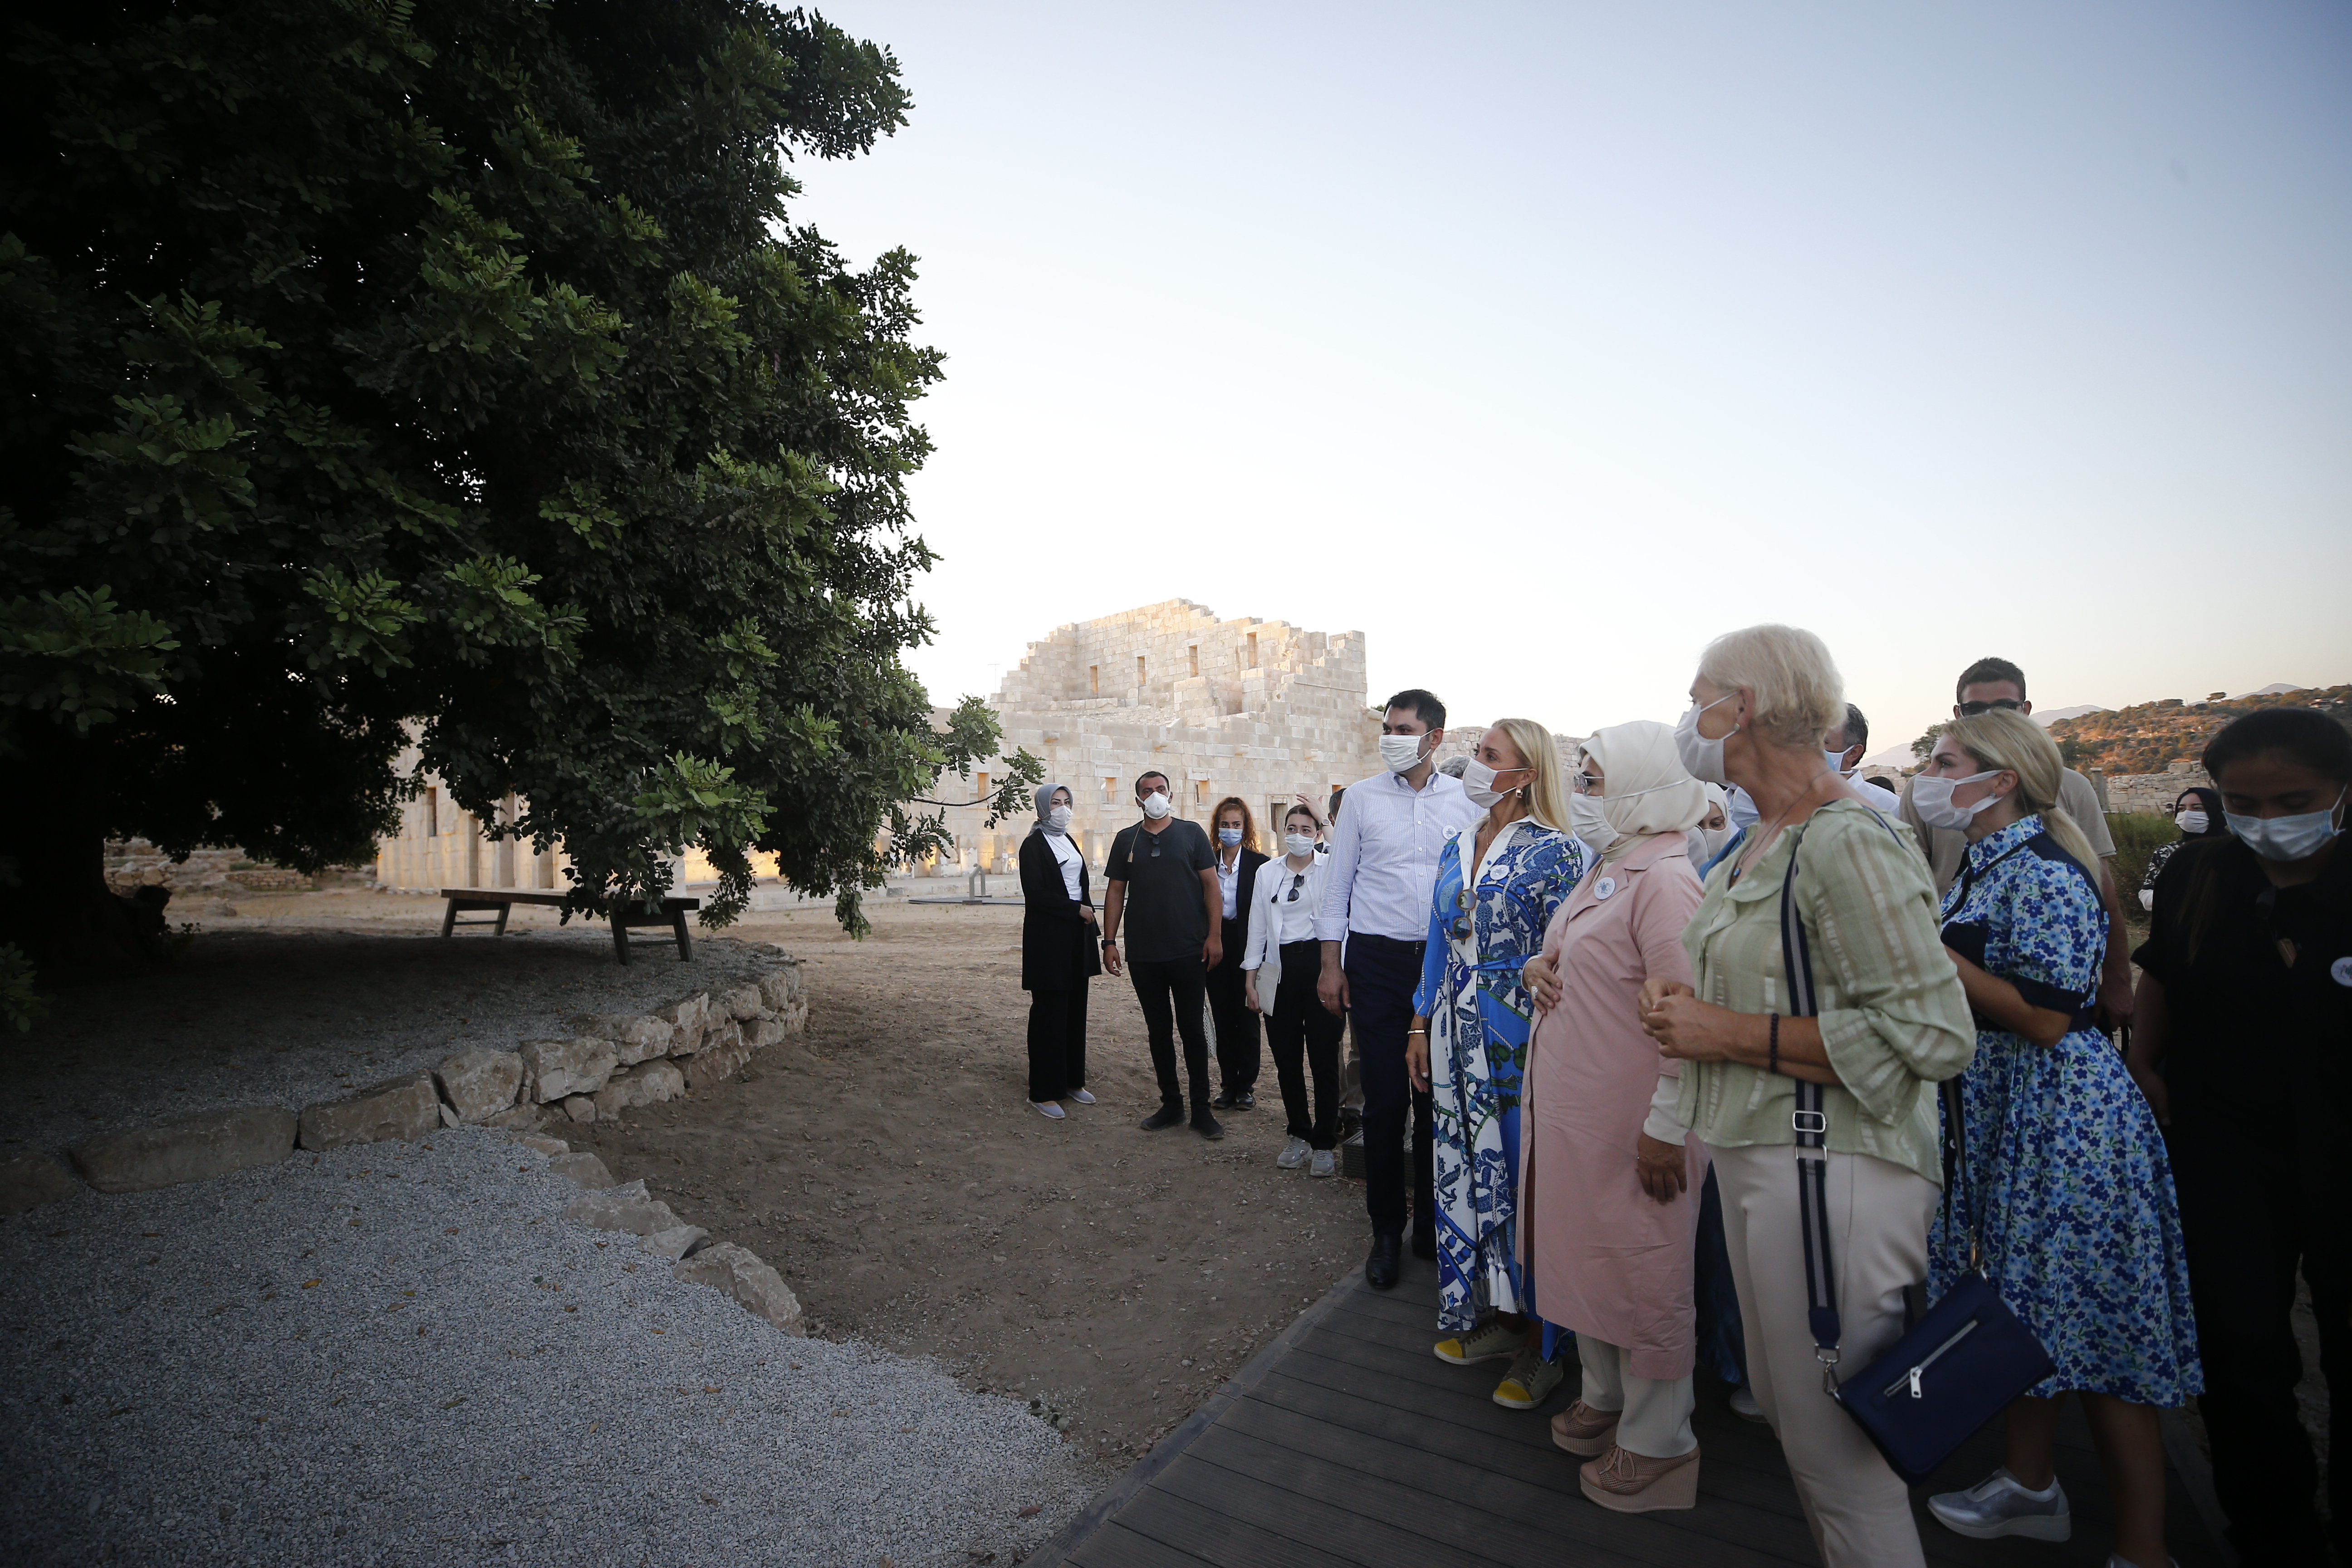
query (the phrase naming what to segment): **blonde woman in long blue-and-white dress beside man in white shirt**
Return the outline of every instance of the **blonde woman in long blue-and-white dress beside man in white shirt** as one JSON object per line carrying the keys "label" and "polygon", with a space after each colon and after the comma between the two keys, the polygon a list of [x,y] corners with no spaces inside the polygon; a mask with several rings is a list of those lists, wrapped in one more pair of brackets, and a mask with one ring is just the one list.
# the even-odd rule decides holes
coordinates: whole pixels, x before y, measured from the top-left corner
{"label": "blonde woman in long blue-and-white dress beside man in white shirt", "polygon": [[1404,1070],[1432,1100],[1437,1154],[1437,1356],[1510,1359],[1494,1401],[1534,1410],[1559,1387],[1519,1269],[1519,1079],[1536,1016],[1519,971],[1585,875],[1552,731],[1498,719],[1463,790],[1486,816],[1437,851],[1437,893]]}

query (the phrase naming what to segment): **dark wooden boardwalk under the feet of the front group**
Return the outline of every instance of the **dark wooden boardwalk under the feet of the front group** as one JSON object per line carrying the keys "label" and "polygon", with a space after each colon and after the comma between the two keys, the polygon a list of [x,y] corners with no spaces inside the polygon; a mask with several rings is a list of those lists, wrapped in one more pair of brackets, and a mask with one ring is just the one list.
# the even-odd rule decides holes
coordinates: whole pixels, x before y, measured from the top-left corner
{"label": "dark wooden boardwalk under the feet of the front group", "polygon": [[[1341,1281],[1150,1458],[1105,1488],[1030,1559],[1033,1568],[1773,1568],[1818,1563],[1771,1432],[1736,1418],[1700,1378],[1705,1453],[1696,1509],[1611,1514],[1576,1486],[1550,1441],[1576,1378],[1543,1410],[1489,1399],[1501,1363],[1456,1368],[1437,1340],[1437,1269],[1406,1258],[1390,1293]],[[2110,1514],[2077,1406],[2058,1474],[2074,1540],[1976,1542],[1933,1523],[1936,1568],[2100,1568]],[[1950,1490],[1999,1462],[1980,1432],[1938,1476]],[[2178,1474],[2171,1544],[2180,1568],[2223,1568]]]}

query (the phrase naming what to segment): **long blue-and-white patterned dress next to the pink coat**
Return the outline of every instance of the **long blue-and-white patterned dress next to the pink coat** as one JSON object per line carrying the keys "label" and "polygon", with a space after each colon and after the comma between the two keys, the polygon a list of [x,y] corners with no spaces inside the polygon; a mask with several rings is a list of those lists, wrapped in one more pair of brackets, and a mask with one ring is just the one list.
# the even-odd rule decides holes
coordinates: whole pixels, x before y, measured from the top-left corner
{"label": "long blue-and-white patterned dress next to the pink coat", "polygon": [[[1437,1326],[1468,1333],[1486,1312],[1534,1312],[1519,1272],[1519,1079],[1536,1016],[1519,969],[1585,875],[1585,846],[1534,818],[1505,823],[1486,863],[1477,823],[1437,851],[1430,943],[1414,1011],[1430,1020],[1437,1152]],[[1463,886],[1470,882],[1465,896]]]}

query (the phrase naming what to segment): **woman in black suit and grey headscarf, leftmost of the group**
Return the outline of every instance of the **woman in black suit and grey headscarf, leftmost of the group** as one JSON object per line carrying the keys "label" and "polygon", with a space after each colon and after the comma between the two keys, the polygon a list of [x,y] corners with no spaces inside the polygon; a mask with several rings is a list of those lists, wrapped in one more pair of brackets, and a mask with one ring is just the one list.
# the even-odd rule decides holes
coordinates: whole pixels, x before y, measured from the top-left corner
{"label": "woman in black suit and grey headscarf, leftmost of the group", "polygon": [[1030,1105],[1061,1121],[1061,1100],[1087,1093],[1087,980],[1103,973],[1087,856],[1070,842],[1070,788],[1037,790],[1037,825],[1021,839],[1021,990],[1030,994]]}

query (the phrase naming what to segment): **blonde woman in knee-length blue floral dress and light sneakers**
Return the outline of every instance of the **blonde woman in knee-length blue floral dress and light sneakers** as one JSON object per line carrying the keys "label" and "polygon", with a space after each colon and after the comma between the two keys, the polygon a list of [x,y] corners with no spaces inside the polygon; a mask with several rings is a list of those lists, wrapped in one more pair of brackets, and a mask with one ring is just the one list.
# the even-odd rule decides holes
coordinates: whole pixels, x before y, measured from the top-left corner
{"label": "blonde woman in knee-length blue floral dress and light sneakers", "polygon": [[2051,1469],[2058,1399],[2082,1394],[2114,1495],[2110,1568],[2164,1568],[2161,1406],[2201,1392],[2180,1206],[2154,1112],[2091,1027],[2107,914],[2091,846],[2051,806],[2065,764],[2018,712],[1959,719],[1912,799],[1969,835],[1943,940],[1976,1011],[1962,1074],[1964,1168],[1929,1239],[1929,1291],[1971,1241],[2002,1300],[2058,1371],[2009,1406],[2009,1462],[1929,1509],[1959,1535],[2065,1540]]}

